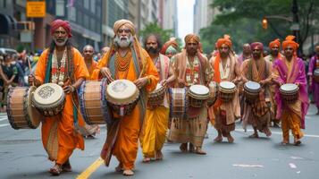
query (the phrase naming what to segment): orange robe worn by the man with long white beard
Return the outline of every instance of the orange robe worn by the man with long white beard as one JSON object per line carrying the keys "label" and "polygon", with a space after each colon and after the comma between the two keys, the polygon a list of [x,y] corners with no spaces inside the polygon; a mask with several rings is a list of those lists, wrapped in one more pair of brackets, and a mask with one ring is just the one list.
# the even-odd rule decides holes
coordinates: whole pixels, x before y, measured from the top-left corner
{"label": "orange robe worn by the man with long white beard", "polygon": [[[152,62],[152,59],[148,56],[145,50],[141,51],[143,56],[145,57],[144,62],[144,75],[143,77],[147,76],[149,79],[149,83],[145,87],[147,92],[155,90],[156,84],[158,82],[158,72],[156,70],[155,65]],[[128,52],[131,53],[131,52]],[[114,54],[115,55],[115,54]],[[108,55],[104,55],[102,60],[97,64],[97,69],[94,70],[92,74],[92,78],[97,80],[101,78],[100,69],[106,64],[108,64],[109,59],[107,58]],[[133,63],[133,58],[130,58],[130,66],[128,72],[120,72],[118,71],[118,79],[126,79],[129,81],[136,81],[139,79],[139,76],[135,72],[135,66]],[[116,69],[115,69],[116,71]],[[127,75],[127,76],[126,76]],[[146,110],[146,109],[143,109]],[[115,115],[116,118],[116,114]],[[120,120],[120,119],[115,119]],[[109,126],[108,126],[109,127]],[[134,162],[137,158],[138,154],[138,147],[139,147],[139,132],[140,132],[140,114],[139,114],[139,105],[137,105],[130,115],[125,115],[119,121],[119,131],[116,136],[116,141],[113,145],[112,154],[119,160],[122,164],[123,169],[132,169],[134,168]],[[106,159],[106,149],[109,146],[104,146],[101,152],[101,158]],[[105,161],[106,162],[106,161]]]}

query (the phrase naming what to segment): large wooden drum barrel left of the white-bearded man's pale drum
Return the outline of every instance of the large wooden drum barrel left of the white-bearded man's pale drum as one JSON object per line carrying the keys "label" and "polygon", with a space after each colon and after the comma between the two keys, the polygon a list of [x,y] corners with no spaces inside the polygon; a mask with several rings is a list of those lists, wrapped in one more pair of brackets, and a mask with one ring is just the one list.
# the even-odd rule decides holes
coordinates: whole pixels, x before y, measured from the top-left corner
{"label": "large wooden drum barrel left of the white-bearded man's pale drum", "polygon": [[106,86],[106,79],[81,84],[78,90],[80,113],[87,124],[105,124],[110,119],[105,99]]}

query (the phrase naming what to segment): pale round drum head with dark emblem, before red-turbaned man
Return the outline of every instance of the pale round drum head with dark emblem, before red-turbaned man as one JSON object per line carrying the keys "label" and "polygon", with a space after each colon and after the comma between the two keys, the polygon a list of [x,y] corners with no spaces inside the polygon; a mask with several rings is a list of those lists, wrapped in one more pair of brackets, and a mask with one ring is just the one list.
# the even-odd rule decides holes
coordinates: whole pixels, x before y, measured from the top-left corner
{"label": "pale round drum head with dark emblem, before red-turbaned man", "polygon": [[54,107],[59,104],[64,97],[61,86],[55,83],[46,83],[38,87],[34,92],[33,102],[36,107]]}

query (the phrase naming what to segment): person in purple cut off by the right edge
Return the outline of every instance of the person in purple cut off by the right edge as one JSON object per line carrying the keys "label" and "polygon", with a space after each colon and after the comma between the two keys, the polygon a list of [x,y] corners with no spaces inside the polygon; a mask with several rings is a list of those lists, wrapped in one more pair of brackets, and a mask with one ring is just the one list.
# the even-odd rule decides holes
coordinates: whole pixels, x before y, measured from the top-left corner
{"label": "person in purple cut off by the right edge", "polygon": [[319,77],[318,73],[315,74],[315,70],[316,72],[319,71],[319,46],[315,47],[315,55],[313,55],[310,59],[308,70],[309,90],[311,90],[311,92],[313,93],[315,107],[317,107],[316,115],[319,115]]}

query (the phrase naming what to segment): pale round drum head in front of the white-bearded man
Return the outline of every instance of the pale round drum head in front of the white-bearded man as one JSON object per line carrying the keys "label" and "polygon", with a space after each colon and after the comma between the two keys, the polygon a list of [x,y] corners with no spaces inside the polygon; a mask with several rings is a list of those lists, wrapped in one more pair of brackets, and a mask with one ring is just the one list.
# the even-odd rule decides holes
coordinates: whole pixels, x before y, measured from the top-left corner
{"label": "pale round drum head in front of the white-bearded man", "polygon": [[139,98],[139,89],[128,80],[111,82],[106,88],[106,99],[113,104],[127,104]]}

